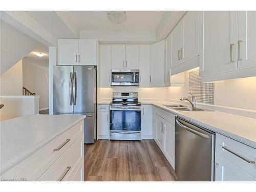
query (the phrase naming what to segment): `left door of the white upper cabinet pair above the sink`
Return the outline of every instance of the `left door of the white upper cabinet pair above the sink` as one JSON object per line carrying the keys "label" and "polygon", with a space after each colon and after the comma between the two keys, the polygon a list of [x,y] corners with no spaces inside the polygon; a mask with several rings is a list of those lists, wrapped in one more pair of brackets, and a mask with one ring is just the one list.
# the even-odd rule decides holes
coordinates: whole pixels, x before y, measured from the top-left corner
{"label": "left door of the white upper cabinet pair above the sink", "polygon": [[178,66],[180,64],[180,30],[179,26],[171,33],[172,39],[172,63],[171,68]]}

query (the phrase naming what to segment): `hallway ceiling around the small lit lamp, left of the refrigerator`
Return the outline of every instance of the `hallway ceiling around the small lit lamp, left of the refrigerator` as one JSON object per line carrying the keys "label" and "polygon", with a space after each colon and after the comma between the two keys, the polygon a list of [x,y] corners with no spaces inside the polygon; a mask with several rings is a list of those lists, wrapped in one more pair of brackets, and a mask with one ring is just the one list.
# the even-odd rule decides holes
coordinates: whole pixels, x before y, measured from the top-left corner
{"label": "hallway ceiling around the small lit lamp, left of the refrigerator", "polygon": [[[45,56],[38,57],[35,55],[36,52],[44,53]],[[33,50],[26,57],[24,57],[23,62],[41,68],[49,68],[48,47],[41,44],[40,47]]]}

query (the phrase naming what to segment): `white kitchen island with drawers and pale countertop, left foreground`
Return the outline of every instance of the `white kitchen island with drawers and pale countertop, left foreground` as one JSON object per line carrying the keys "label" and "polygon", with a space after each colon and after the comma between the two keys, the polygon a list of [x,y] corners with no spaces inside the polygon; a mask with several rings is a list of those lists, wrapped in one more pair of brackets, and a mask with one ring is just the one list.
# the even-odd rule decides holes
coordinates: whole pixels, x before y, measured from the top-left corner
{"label": "white kitchen island with drawers and pale countertop, left foreground", "polygon": [[26,115],[1,121],[1,180],[83,180],[84,118]]}

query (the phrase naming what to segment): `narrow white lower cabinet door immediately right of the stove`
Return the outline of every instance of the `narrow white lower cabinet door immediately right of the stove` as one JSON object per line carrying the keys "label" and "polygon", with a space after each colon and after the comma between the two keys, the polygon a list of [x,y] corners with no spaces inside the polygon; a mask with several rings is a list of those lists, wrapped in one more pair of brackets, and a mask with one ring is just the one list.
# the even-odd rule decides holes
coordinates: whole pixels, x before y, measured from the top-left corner
{"label": "narrow white lower cabinet door immediately right of the stove", "polygon": [[152,105],[142,105],[142,139],[152,139]]}

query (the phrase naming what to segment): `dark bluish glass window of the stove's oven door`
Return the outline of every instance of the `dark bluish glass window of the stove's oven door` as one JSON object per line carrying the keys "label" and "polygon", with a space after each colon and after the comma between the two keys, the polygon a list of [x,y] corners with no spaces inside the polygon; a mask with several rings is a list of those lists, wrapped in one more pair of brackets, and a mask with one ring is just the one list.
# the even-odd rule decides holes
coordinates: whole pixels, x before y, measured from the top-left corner
{"label": "dark bluish glass window of the stove's oven door", "polygon": [[141,111],[110,111],[110,130],[141,131]]}

